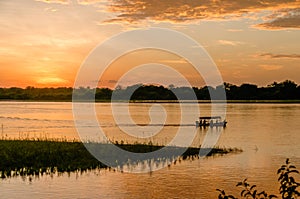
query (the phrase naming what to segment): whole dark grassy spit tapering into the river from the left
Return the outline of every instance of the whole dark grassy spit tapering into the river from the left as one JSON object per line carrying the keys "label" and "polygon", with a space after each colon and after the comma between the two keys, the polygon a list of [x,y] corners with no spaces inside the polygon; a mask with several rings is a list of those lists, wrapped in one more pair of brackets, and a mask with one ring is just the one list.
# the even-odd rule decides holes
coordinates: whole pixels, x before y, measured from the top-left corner
{"label": "whole dark grassy spit tapering into the river from the left", "polygon": [[[90,150],[97,150],[102,156],[109,156],[111,160],[116,156],[112,150],[112,144],[107,143],[85,143],[89,145]],[[163,146],[149,144],[124,144],[115,143],[115,146],[126,151],[135,153],[149,153],[161,149]],[[163,161],[185,160],[199,158],[199,148],[188,148],[187,151],[176,155],[180,147],[164,147],[165,153],[156,159],[147,159],[149,156],[143,156],[145,159],[128,160],[128,157],[118,158],[118,163],[113,165],[120,168],[122,166],[141,161]],[[201,149],[202,150],[202,149]],[[211,149],[208,156],[216,154],[238,153],[240,149],[230,148]],[[174,156],[175,154],[175,156]],[[101,157],[102,157],[101,156]],[[119,157],[119,156],[118,156]],[[116,161],[114,161],[116,162]],[[169,163],[168,163],[169,164]],[[53,174],[56,172],[82,172],[97,168],[108,168],[105,164],[99,162],[85,148],[82,142],[77,141],[53,141],[53,140],[0,140],[0,177],[7,178],[12,176],[39,176],[44,174]]]}

